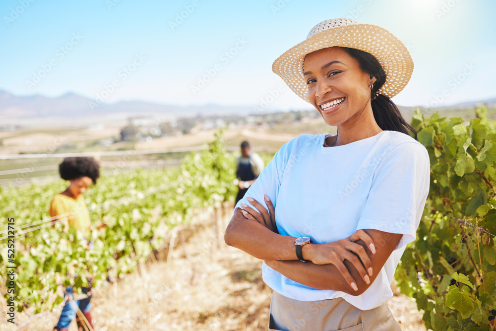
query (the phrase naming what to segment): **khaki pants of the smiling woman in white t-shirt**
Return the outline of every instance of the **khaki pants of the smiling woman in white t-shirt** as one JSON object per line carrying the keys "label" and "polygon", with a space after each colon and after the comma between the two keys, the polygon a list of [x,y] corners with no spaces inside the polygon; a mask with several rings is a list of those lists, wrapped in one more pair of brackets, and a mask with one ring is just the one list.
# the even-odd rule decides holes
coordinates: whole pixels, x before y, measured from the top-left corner
{"label": "khaki pants of the smiling woman in white t-shirt", "polygon": [[274,291],[269,330],[282,331],[401,331],[385,304],[360,310],[342,298],[298,301]]}

